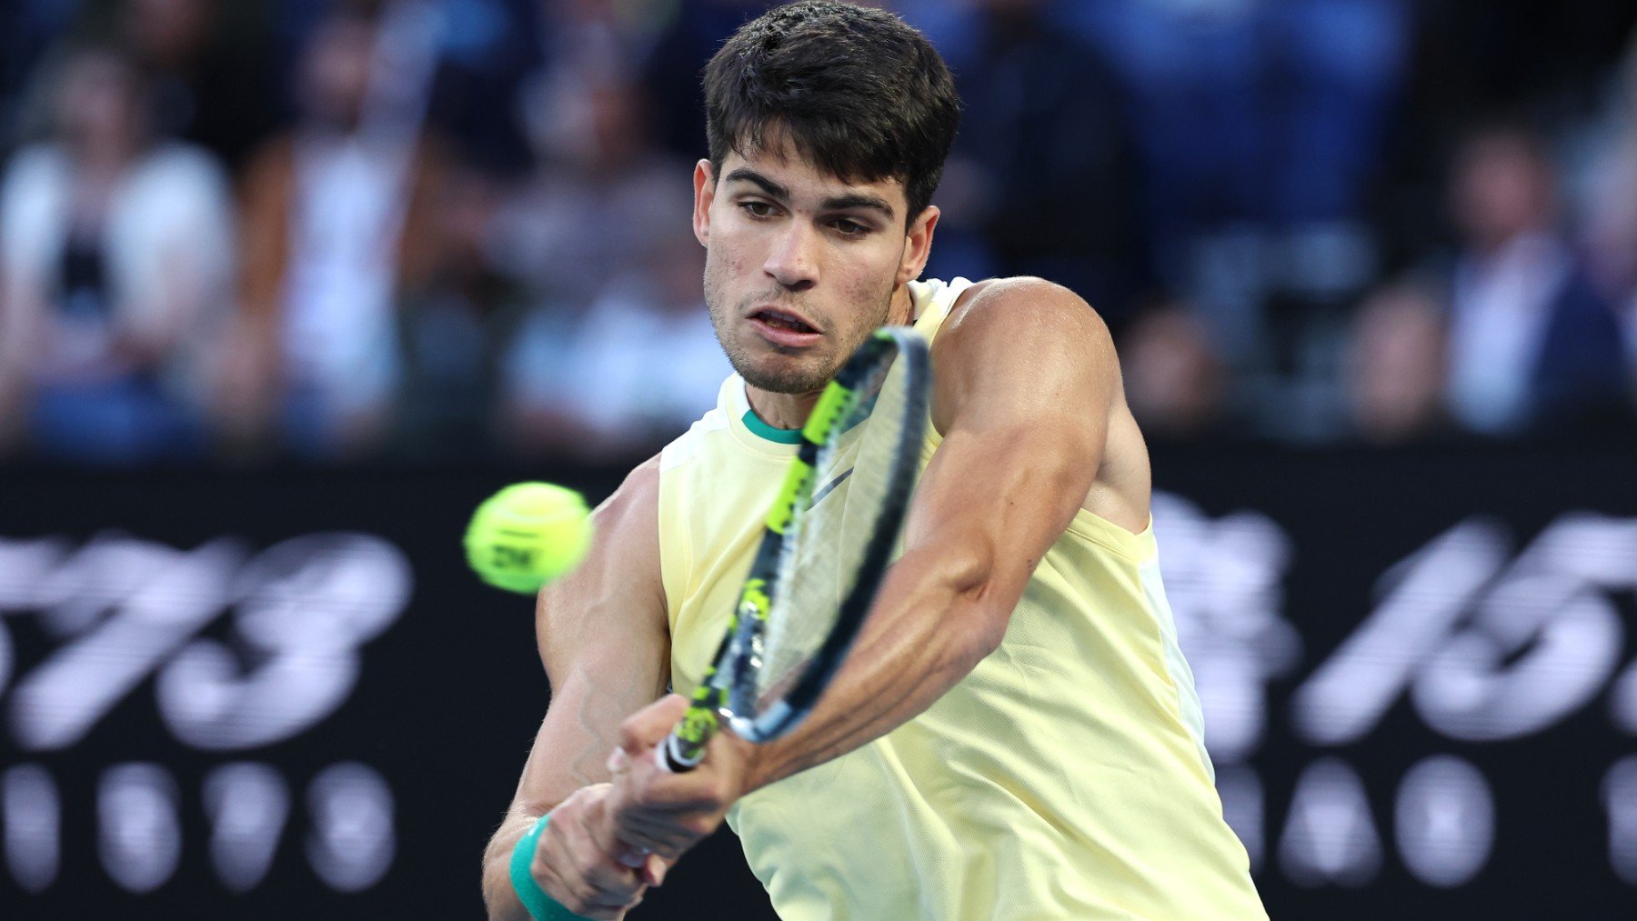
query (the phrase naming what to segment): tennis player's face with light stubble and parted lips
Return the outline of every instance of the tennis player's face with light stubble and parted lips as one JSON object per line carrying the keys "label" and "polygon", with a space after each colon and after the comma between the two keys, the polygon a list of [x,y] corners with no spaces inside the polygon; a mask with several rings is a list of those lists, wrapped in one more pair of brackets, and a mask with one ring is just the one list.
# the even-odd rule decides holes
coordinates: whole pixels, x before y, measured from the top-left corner
{"label": "tennis player's face with light stubble and parted lips", "polygon": [[897,180],[846,183],[789,146],[728,154],[720,177],[701,160],[694,236],[733,370],[766,391],[810,393],[876,327],[909,322],[907,299],[894,296],[925,267],[938,209],[905,227],[907,211]]}

